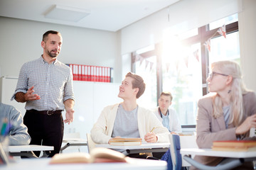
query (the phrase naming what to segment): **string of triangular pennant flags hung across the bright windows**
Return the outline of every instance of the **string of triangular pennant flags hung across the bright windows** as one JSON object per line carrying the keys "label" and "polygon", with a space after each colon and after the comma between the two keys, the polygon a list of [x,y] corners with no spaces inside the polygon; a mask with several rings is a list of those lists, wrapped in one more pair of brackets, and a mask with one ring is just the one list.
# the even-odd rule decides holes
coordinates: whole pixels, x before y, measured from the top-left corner
{"label": "string of triangular pennant flags hung across the bright windows", "polygon": [[[218,28],[218,30],[210,37],[206,42],[203,43],[204,46],[206,46],[208,52],[210,52],[210,39],[213,38],[216,33],[219,33],[222,35],[224,38],[226,38],[226,30],[225,30],[225,24]],[[193,57],[196,58],[196,60],[199,62],[199,50],[193,51]],[[149,66],[149,70],[153,68],[154,62],[150,62],[149,60],[146,60],[144,57],[141,55],[136,55],[134,62],[139,62],[139,66],[142,65],[142,62],[145,61],[145,69]],[[186,67],[188,68],[188,56],[184,57],[184,62],[186,64]],[[178,69],[178,64],[179,62],[176,62],[176,69]],[[169,71],[170,63],[166,63],[166,71]]]}

